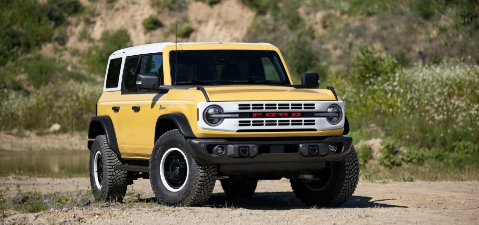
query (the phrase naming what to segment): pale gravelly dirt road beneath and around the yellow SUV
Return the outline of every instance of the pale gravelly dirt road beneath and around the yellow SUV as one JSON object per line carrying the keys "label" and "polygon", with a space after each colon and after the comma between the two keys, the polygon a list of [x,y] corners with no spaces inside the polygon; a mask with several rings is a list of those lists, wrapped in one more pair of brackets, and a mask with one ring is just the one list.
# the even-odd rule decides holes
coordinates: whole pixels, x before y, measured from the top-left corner
{"label": "pale gravelly dirt road beneath and around the yellow SUV", "polygon": [[[130,203],[91,204],[51,209],[35,214],[9,211],[3,223],[94,224],[477,224],[479,182],[360,182],[342,208],[306,207],[290,191],[288,180],[260,181],[247,199],[227,198],[217,182],[203,207],[166,207],[153,201],[149,180],[139,180],[128,192],[140,196]],[[13,196],[15,186],[43,193],[77,193],[87,178],[0,178],[0,189]],[[133,195],[130,195],[133,196]],[[11,215],[14,214],[14,215]],[[1,223],[0,223],[1,224]]]}

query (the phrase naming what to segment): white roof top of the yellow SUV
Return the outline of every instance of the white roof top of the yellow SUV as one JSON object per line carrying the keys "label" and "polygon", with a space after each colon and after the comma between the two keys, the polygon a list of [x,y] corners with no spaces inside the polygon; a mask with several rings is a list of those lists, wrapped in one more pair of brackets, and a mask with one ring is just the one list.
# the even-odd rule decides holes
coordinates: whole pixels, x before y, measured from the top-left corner
{"label": "white roof top of the yellow SUV", "polygon": [[[130,56],[130,55],[142,55],[142,54],[163,52],[163,48],[165,46],[174,45],[174,44],[175,44],[174,42],[161,42],[161,43],[137,45],[137,46],[117,50],[117,51],[113,52],[111,54],[111,56],[118,55],[118,54],[126,54],[127,56]],[[178,42],[178,44],[181,44],[181,45],[187,45],[187,44],[257,44],[257,45],[271,45],[270,43],[245,43],[245,42]]]}

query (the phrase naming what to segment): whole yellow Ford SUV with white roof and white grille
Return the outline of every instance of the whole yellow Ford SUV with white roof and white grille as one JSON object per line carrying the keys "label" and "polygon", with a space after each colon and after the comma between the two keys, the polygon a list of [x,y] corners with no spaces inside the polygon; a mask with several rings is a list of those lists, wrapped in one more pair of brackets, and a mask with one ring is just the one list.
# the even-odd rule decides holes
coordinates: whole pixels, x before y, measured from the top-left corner
{"label": "whole yellow Ford SUV with white roof and white grille", "polygon": [[158,202],[199,205],[287,178],[307,205],[340,206],[359,168],[344,103],[317,73],[293,84],[268,43],[155,43],[108,60],[88,137],[96,198],[150,179]]}

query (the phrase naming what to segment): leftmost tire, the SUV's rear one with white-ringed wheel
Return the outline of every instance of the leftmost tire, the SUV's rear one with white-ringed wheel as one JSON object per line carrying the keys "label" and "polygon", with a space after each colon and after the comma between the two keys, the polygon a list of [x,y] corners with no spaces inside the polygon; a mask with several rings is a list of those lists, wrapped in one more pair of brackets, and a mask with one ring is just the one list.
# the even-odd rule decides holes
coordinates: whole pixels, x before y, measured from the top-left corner
{"label": "leftmost tire, the SUV's rear one with white-ringed wheel", "polygon": [[90,184],[96,199],[123,200],[128,187],[128,172],[115,169],[121,164],[120,157],[108,145],[106,136],[97,136],[90,150]]}

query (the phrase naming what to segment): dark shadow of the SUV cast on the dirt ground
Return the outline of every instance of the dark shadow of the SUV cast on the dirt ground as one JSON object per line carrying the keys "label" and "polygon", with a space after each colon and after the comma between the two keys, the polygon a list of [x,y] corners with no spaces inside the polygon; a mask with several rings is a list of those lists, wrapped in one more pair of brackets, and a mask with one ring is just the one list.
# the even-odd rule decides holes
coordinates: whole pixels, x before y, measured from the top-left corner
{"label": "dark shadow of the SUV cast on the dirt ground", "polygon": [[[348,202],[340,208],[408,208],[381,203],[395,199],[382,199],[371,201],[371,197],[352,196]],[[290,209],[311,209],[311,206],[302,204],[292,192],[260,192],[254,193],[249,198],[230,198],[224,193],[215,193],[210,200],[204,204],[213,208],[243,208],[251,210],[290,210]]]}

